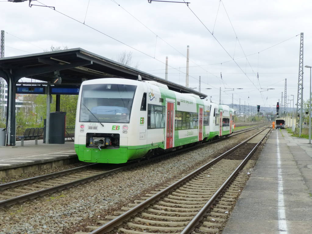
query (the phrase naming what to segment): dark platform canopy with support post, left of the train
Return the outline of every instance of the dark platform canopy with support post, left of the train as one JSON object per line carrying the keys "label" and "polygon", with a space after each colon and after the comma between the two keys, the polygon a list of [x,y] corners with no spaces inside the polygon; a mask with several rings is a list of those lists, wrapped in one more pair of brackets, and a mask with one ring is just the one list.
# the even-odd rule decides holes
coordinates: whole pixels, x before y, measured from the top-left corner
{"label": "dark platform canopy with support post, left of the train", "polygon": [[[16,139],[16,85],[30,84],[30,82],[18,82],[21,78],[26,77],[42,81],[41,83],[33,82],[32,85],[77,86],[84,80],[108,77],[136,80],[138,75],[142,77],[142,80],[152,80],[167,85],[169,90],[195,94],[200,98],[207,97],[207,95],[196,90],[153,76],[81,48],[0,58],[0,77],[4,78],[8,84],[7,145],[14,146]],[[59,80],[56,82],[57,78]],[[61,82],[59,82],[60,80]]]}

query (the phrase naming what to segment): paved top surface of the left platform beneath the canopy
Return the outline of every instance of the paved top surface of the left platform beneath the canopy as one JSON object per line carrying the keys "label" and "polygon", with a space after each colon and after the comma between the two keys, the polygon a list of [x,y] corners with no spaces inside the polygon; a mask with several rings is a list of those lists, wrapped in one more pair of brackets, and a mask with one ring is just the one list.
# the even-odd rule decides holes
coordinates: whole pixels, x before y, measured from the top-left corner
{"label": "paved top surface of the left platform beneath the canopy", "polygon": [[23,147],[20,145],[21,142],[17,141],[17,147],[0,147],[0,171],[77,157],[74,142],[43,144],[38,140],[38,145],[35,145],[34,140],[29,140],[24,141]]}

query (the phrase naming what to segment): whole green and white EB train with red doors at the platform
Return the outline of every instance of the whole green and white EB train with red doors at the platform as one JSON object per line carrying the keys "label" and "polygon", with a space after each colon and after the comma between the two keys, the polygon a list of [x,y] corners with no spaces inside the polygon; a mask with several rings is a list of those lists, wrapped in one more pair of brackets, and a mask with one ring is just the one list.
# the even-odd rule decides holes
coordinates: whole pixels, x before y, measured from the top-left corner
{"label": "whole green and white EB train with red doors at the platform", "polygon": [[75,150],[80,161],[126,163],[232,134],[234,110],[155,81],[82,82]]}

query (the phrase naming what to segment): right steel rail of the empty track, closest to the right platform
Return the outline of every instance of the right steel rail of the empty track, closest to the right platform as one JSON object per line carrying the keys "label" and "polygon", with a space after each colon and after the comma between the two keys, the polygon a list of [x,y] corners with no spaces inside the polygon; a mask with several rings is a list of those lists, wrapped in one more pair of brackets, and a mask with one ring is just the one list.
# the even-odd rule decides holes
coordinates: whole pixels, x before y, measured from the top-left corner
{"label": "right steel rail of the empty track, closest to the right platform", "polygon": [[229,183],[231,183],[232,179],[235,178],[236,174],[241,170],[241,168],[245,165],[245,163],[249,160],[254,151],[258,148],[258,146],[262,143],[266,135],[269,133],[268,131],[263,138],[256,144],[256,146],[250,151],[250,153],[246,156],[246,158],[238,165],[238,167],[232,172],[232,174],[227,178],[227,180],[221,185],[221,187],[217,190],[215,194],[208,200],[208,202],[202,207],[202,209],[195,215],[195,217],[188,223],[188,225],[183,229],[180,234],[189,234],[194,231],[196,226],[202,220],[202,218],[206,215],[207,211],[212,207],[213,203],[220,196],[222,191],[227,187]]}

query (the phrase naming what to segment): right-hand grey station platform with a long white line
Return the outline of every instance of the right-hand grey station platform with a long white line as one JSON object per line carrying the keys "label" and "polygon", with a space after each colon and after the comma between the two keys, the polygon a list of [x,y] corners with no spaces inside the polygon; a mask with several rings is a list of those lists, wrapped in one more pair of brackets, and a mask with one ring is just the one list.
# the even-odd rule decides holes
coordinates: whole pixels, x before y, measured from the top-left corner
{"label": "right-hand grey station platform with a long white line", "polygon": [[312,233],[312,144],[273,129],[222,234]]}

